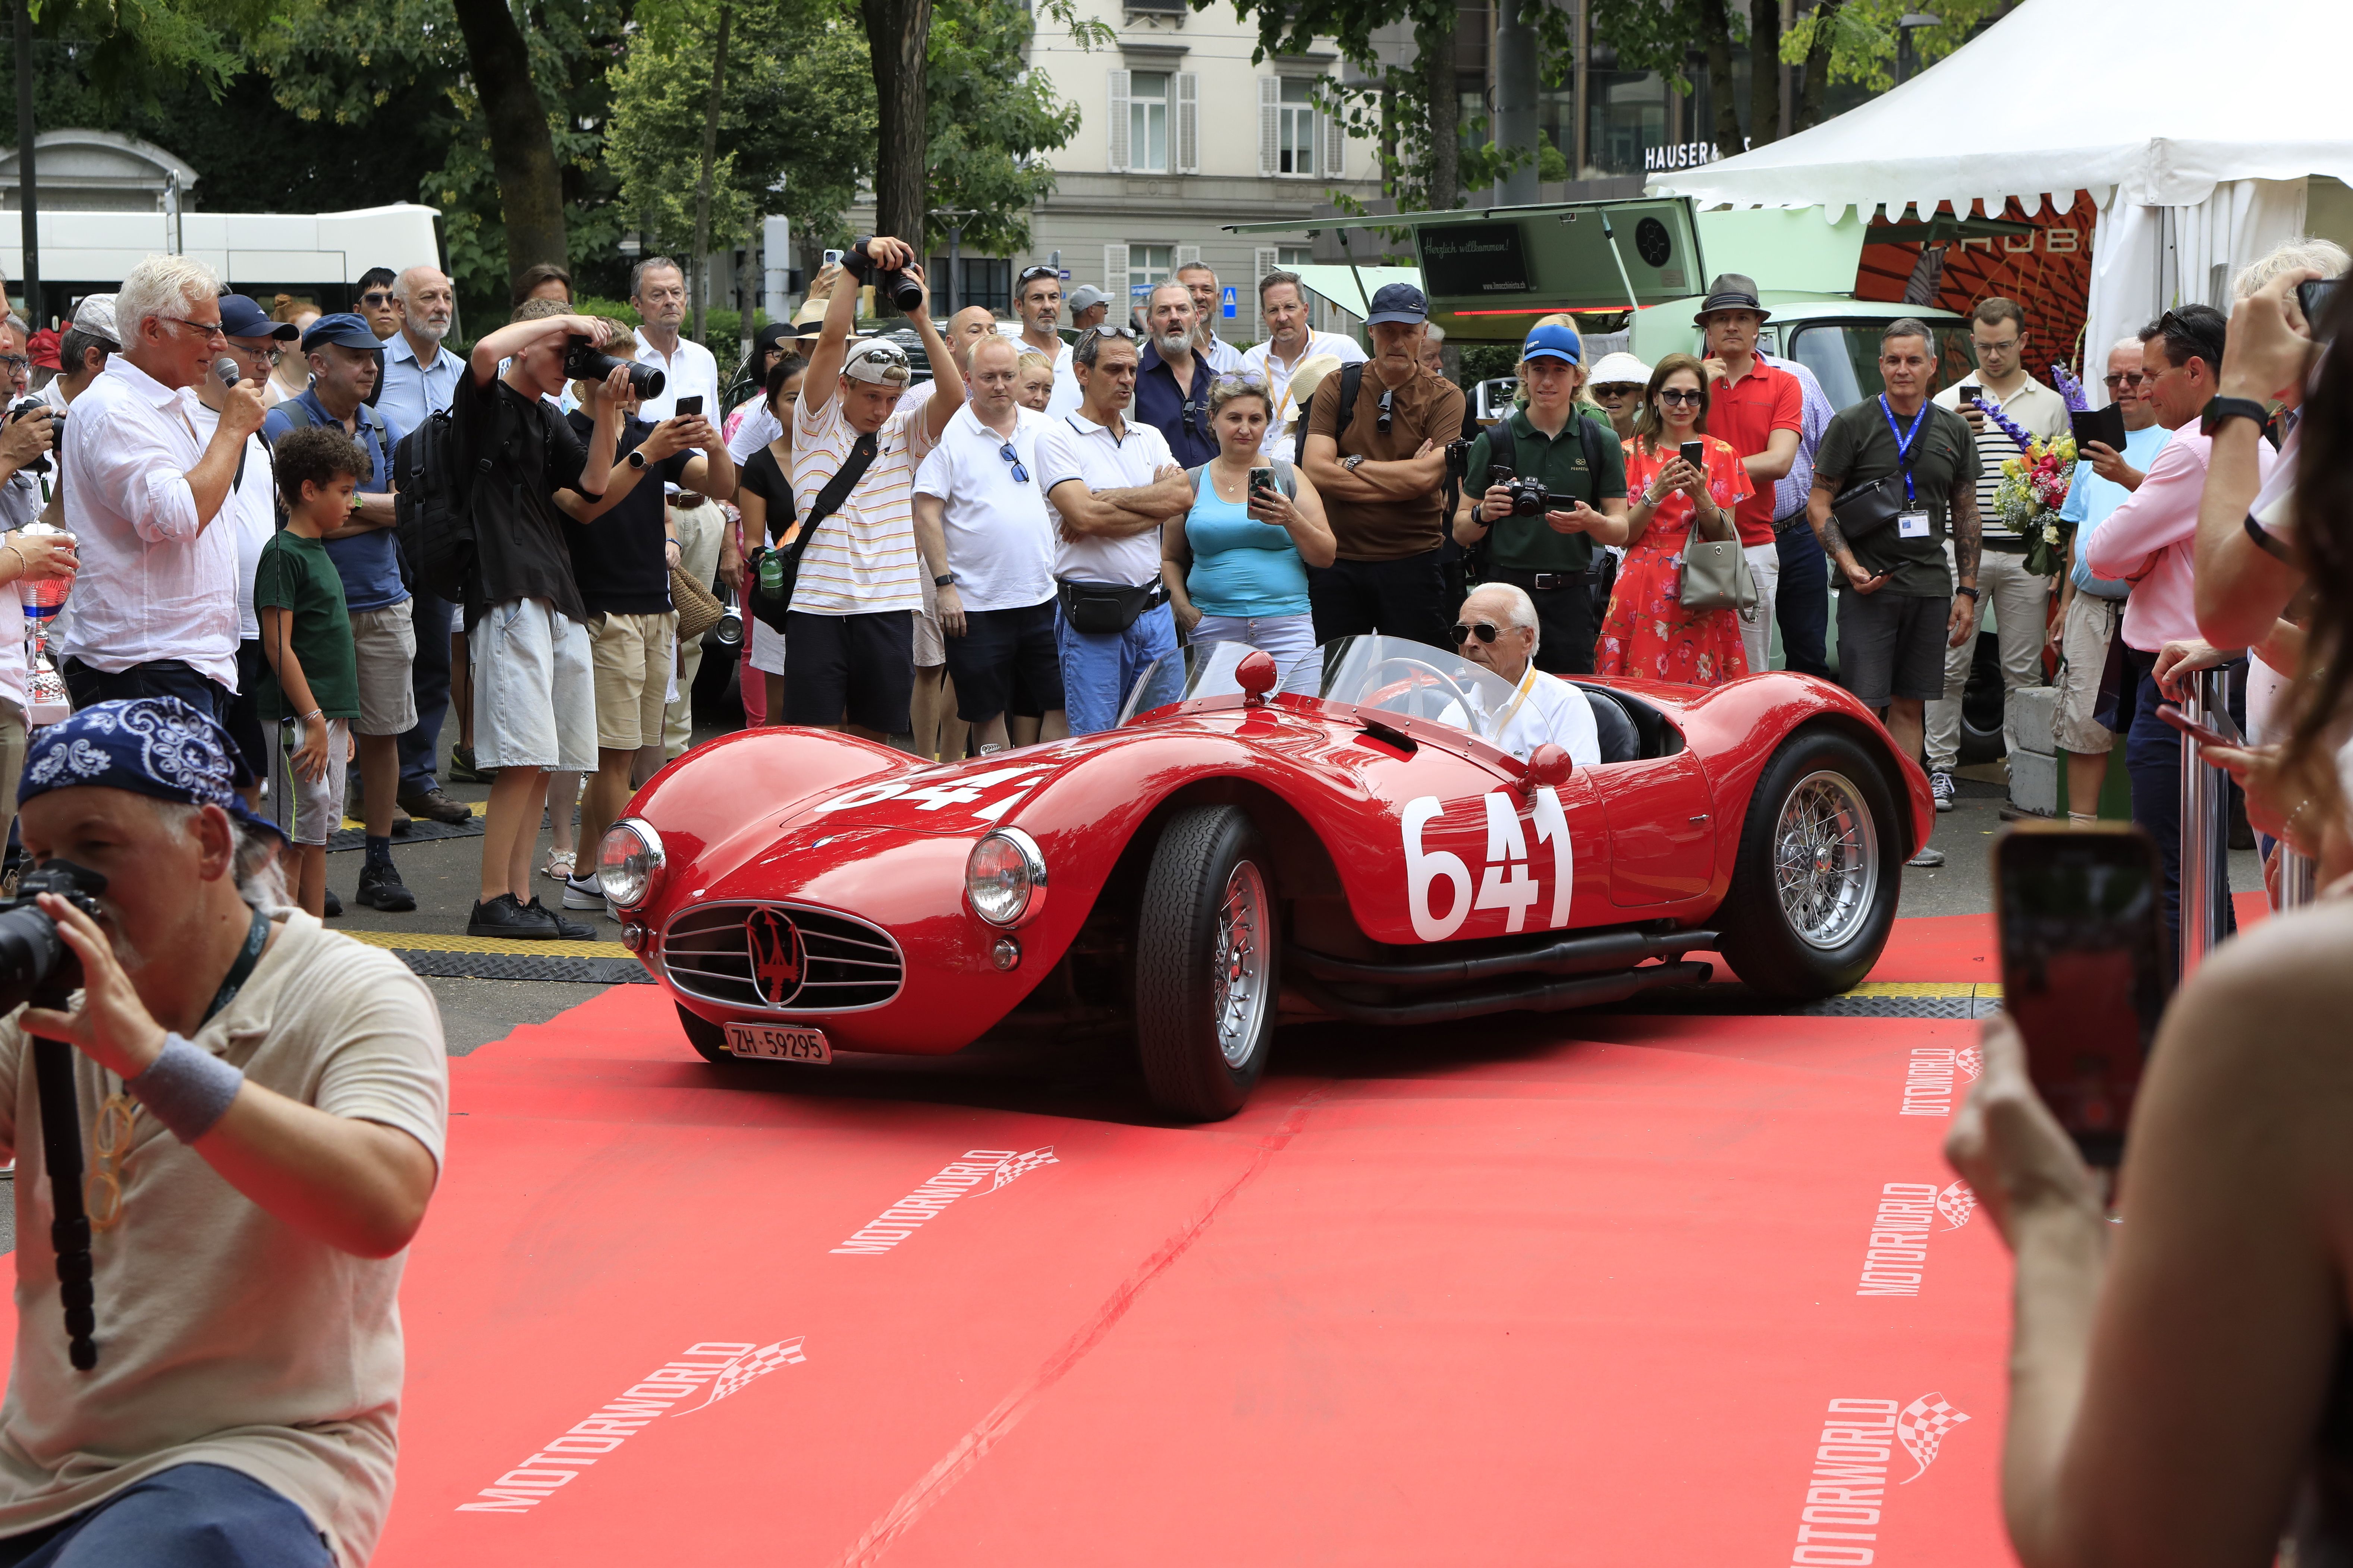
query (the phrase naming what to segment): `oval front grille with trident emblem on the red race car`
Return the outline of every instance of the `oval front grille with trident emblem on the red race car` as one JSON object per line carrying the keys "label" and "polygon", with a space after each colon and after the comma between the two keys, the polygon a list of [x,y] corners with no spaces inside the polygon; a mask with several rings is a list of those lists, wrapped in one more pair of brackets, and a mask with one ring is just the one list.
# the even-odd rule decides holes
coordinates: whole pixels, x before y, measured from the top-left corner
{"label": "oval front grille with trident emblem on the red race car", "polygon": [[661,938],[671,985],[767,1013],[849,1013],[899,994],[906,959],[864,919],[793,903],[706,903]]}

